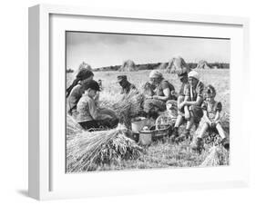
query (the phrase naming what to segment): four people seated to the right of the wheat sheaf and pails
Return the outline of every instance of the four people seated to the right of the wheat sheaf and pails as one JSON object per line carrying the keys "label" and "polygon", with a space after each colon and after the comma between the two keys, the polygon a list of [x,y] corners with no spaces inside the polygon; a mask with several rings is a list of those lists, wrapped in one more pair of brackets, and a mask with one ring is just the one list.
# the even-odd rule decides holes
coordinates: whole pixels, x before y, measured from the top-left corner
{"label": "four people seated to the right of the wheat sheaf and pails", "polygon": [[[172,140],[182,142],[189,138],[193,125],[198,128],[202,121],[200,133],[194,136],[192,149],[201,151],[204,146],[203,136],[206,132],[219,133],[221,143],[227,149],[230,147],[229,137],[220,124],[221,102],[215,101],[216,90],[212,85],[200,82],[200,74],[196,71],[181,69],[178,72],[180,81],[179,93],[175,94],[174,86],[166,81],[162,73],[152,71],[149,74],[148,93],[145,93],[144,111],[158,116],[159,112],[168,107],[169,100],[177,100],[178,116],[173,127]],[[147,90],[147,89],[145,89]],[[186,129],[179,133],[179,126],[186,122]]]}

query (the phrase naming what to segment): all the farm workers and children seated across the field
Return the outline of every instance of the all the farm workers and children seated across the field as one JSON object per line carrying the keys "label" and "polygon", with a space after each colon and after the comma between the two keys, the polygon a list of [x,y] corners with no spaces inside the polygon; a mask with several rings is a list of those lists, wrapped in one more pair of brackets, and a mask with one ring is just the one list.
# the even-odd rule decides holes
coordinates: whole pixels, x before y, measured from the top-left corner
{"label": "all the farm workers and children seated across the field", "polygon": [[[174,142],[182,142],[189,138],[189,132],[193,125],[198,125],[204,120],[199,136],[193,143],[193,150],[203,148],[203,136],[207,131],[215,131],[220,134],[224,147],[229,148],[229,140],[226,132],[220,124],[221,102],[214,100],[216,90],[212,85],[205,88],[200,82],[200,74],[196,71],[183,69],[178,73],[180,81],[179,93],[175,93],[174,86],[164,79],[162,73],[153,70],[149,73],[149,81],[144,85],[143,111],[148,116],[159,116],[159,112],[166,110],[169,100],[177,101],[178,117],[173,127],[172,139]],[[77,73],[74,82],[67,88],[69,103],[68,113],[86,130],[92,131],[100,127],[114,128],[118,125],[118,117],[115,112],[98,106],[101,84],[93,80],[94,73],[89,69]],[[127,95],[136,86],[128,82],[126,75],[118,76],[121,93]],[[186,122],[186,129],[179,134],[179,126]]]}

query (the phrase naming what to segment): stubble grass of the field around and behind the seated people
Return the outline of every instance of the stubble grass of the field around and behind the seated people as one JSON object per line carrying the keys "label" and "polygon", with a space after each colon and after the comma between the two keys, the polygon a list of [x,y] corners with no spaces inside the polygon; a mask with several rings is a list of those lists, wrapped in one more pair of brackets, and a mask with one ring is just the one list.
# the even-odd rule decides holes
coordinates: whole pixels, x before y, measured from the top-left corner
{"label": "stubble grass of the field around and behind the seated people", "polygon": [[[216,100],[220,101],[223,106],[222,113],[230,113],[230,70],[200,70],[201,81],[205,84],[212,84],[216,91]],[[103,91],[102,99],[109,96],[109,101],[113,102],[119,97],[120,86],[117,81],[117,76],[120,74],[128,75],[128,80],[134,83],[138,88],[148,81],[148,74],[150,71],[138,72],[95,72],[94,79],[102,80]],[[71,83],[73,73],[67,73],[67,86]],[[165,79],[169,80],[179,93],[179,79],[176,74],[164,73]],[[100,98],[99,98],[100,100]],[[69,121],[67,121],[68,126]],[[73,122],[72,122],[73,123]],[[70,126],[69,126],[70,127]],[[71,126],[72,127],[72,126]],[[184,127],[180,128],[182,131]],[[81,132],[79,129],[72,131],[67,129],[67,141],[70,135]],[[193,135],[193,132],[191,132]],[[154,142],[144,149],[144,152],[137,160],[115,161],[113,163],[106,163],[95,167],[96,171],[109,170],[129,170],[129,169],[150,169],[150,168],[177,168],[177,167],[198,167],[206,159],[210,153],[210,145],[206,146],[205,151],[201,154],[191,151],[189,142],[182,142],[181,144],[173,144],[170,142]],[[229,164],[229,153],[226,153],[226,159],[223,160],[223,165]]]}

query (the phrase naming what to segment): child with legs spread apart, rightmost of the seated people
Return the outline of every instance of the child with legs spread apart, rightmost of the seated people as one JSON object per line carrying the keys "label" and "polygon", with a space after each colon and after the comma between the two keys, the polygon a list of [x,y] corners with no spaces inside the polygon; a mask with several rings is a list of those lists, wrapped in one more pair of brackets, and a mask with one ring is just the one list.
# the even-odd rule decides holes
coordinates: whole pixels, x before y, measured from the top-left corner
{"label": "child with legs spread apart, rightmost of the seated people", "polygon": [[212,85],[207,86],[205,96],[206,99],[202,103],[204,121],[202,128],[200,130],[200,134],[199,136],[196,136],[192,149],[194,151],[201,151],[203,149],[202,137],[205,134],[205,132],[219,133],[220,138],[222,139],[222,145],[226,149],[229,149],[230,142],[220,124],[220,112],[222,110],[222,104],[221,102],[216,102],[214,100],[216,96],[216,91]]}

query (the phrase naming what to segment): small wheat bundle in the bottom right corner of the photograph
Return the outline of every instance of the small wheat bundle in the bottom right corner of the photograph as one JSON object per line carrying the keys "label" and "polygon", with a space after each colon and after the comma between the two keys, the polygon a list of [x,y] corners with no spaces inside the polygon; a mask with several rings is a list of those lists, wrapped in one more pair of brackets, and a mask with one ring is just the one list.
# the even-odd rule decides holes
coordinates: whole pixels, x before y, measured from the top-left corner
{"label": "small wheat bundle in the bottom right corner of the photograph", "polygon": [[222,146],[213,146],[210,148],[209,155],[201,163],[200,167],[219,166],[229,164],[229,151]]}

